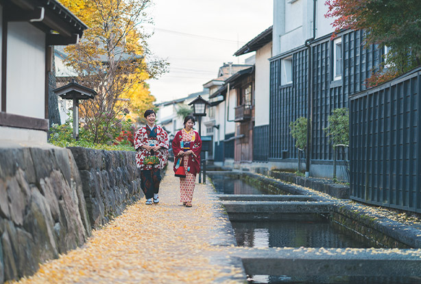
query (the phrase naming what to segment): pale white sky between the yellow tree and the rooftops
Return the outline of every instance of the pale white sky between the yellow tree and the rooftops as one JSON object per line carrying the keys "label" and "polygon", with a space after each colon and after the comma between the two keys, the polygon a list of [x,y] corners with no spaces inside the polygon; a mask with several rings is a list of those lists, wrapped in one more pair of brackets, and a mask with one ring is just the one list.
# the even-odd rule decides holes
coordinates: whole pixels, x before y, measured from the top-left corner
{"label": "pale white sky between the yellow tree and the rooftops", "polygon": [[149,49],[169,62],[169,73],[148,80],[156,102],[187,97],[216,78],[224,62],[243,64],[254,54],[232,56],[273,23],[273,0],[154,0]]}

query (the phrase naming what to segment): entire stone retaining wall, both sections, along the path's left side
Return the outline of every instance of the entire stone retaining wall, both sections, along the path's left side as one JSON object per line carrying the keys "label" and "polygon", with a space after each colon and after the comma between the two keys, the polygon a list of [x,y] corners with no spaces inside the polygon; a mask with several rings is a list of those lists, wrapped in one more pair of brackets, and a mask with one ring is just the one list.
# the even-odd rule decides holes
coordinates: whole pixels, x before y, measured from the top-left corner
{"label": "entire stone retaining wall, both sections, along the path's left side", "polygon": [[134,154],[0,147],[0,283],[82,246],[143,196]]}

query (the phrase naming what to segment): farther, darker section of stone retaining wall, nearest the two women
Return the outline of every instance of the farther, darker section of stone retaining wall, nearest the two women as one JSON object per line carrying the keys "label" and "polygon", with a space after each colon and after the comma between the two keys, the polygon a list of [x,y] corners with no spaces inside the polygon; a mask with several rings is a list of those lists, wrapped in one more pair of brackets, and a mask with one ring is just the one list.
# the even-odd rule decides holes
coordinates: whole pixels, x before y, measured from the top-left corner
{"label": "farther, darker section of stone retaining wall, nearest the two women", "polygon": [[135,152],[69,147],[82,179],[82,188],[93,228],[120,215],[127,204],[143,197]]}

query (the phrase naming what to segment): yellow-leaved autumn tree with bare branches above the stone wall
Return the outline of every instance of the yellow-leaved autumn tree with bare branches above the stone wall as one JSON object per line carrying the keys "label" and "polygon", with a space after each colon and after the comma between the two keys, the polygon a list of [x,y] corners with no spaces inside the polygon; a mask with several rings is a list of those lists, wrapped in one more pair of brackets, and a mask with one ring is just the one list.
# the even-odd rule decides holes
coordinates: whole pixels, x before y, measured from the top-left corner
{"label": "yellow-leaved autumn tree with bare branches above the stone wall", "polygon": [[[61,0],[86,25],[82,40],[67,47],[65,63],[77,73],[80,84],[95,89],[93,100],[82,102],[80,117],[94,143],[112,141],[121,120],[133,108],[152,108],[145,80],[167,71],[167,62],[147,47],[145,24],[150,0]],[[142,104],[139,104],[142,102]],[[145,110],[143,109],[143,110]]]}

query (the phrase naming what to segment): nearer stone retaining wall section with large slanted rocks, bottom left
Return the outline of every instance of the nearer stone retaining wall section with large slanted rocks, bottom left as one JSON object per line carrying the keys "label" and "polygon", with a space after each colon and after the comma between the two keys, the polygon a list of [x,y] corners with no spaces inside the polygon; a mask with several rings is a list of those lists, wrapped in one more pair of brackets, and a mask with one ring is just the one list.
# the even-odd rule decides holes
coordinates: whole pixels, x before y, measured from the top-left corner
{"label": "nearer stone retaining wall section with large slanted rocks, bottom left", "polygon": [[0,283],[33,274],[90,235],[70,150],[0,147]]}

